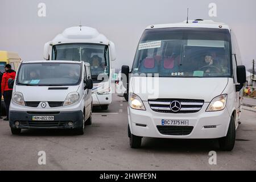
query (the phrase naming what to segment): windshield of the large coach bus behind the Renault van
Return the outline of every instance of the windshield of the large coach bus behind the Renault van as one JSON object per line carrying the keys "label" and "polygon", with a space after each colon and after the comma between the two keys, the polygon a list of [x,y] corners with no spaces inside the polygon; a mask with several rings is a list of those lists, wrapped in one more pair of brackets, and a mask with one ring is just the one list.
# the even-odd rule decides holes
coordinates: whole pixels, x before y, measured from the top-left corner
{"label": "windshield of the large coach bus behind the Renault van", "polygon": [[94,82],[97,82],[98,78],[109,77],[109,50],[106,45],[57,44],[52,48],[52,60],[85,61],[89,63]]}

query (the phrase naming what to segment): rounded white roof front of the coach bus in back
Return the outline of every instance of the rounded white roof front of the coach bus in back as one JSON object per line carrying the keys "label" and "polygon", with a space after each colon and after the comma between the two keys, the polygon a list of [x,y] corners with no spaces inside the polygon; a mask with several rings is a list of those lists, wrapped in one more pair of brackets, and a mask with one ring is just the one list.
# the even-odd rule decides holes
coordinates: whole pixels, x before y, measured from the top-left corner
{"label": "rounded white roof front of the coach bus in back", "polygon": [[52,40],[53,45],[64,43],[94,43],[108,45],[109,40],[95,28],[79,26],[66,28]]}

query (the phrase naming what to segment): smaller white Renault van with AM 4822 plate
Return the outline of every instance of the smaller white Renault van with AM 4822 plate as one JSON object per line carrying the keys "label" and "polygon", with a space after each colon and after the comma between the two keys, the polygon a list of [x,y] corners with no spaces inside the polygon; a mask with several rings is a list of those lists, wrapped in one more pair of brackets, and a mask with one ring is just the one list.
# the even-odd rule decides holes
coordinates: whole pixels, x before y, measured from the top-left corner
{"label": "smaller white Renault van with AM 4822 plate", "polygon": [[23,61],[13,85],[11,132],[73,129],[84,134],[92,122],[92,88],[88,63]]}

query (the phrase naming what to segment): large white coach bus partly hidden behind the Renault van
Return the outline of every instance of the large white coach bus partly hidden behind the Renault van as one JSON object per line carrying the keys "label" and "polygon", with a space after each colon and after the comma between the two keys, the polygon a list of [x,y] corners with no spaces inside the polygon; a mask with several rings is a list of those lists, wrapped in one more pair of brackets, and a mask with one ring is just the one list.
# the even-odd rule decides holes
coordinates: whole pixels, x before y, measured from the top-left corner
{"label": "large white coach bus partly hidden behind the Renault van", "polygon": [[85,61],[93,79],[93,106],[107,110],[112,103],[111,63],[114,43],[91,27],[70,27],[44,45],[44,59]]}

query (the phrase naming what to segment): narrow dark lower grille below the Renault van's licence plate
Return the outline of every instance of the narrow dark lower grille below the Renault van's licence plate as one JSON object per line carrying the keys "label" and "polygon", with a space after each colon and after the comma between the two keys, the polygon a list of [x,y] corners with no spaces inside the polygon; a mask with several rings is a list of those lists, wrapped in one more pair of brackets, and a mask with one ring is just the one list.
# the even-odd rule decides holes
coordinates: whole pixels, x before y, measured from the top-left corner
{"label": "narrow dark lower grille below the Renault van's licence plate", "polygon": [[61,127],[67,125],[65,121],[22,121],[20,125],[27,127]]}

